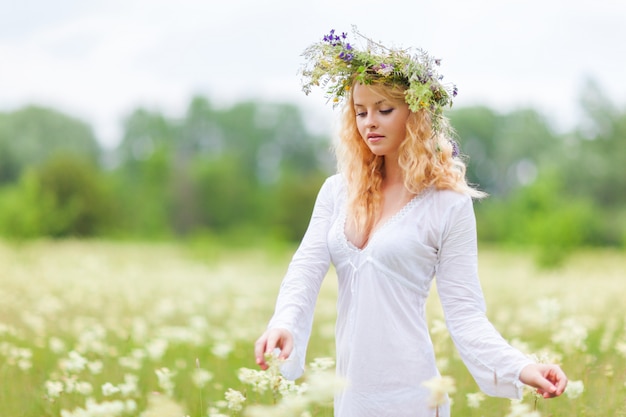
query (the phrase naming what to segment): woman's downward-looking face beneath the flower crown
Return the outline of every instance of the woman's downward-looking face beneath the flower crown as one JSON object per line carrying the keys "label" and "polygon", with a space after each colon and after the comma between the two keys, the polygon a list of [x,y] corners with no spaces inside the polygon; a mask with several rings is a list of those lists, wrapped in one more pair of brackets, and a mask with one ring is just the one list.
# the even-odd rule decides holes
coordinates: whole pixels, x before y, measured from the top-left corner
{"label": "woman's downward-looking face beneath the flower crown", "polygon": [[408,104],[386,98],[374,88],[359,83],[354,85],[352,98],[356,125],[369,149],[378,156],[397,158],[411,113]]}

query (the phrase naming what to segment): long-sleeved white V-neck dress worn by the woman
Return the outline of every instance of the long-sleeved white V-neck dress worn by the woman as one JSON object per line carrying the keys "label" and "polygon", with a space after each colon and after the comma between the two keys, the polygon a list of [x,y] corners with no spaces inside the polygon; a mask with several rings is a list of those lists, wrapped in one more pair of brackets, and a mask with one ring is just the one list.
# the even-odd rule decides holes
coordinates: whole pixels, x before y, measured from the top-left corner
{"label": "long-sleeved white V-neck dress worn by the woman", "polygon": [[[334,175],[319,192],[268,326],[294,335],[285,377],[298,378],[304,370],[315,303],[332,262],[339,280],[337,373],[349,384],[335,397],[335,416],[436,415],[422,386],[438,375],[425,318],[435,276],[452,340],[481,390],[519,398],[519,373],[531,360],[485,316],[471,198],[428,189],[376,230],[363,249],[346,239],[345,220],[345,182]],[[449,412],[444,405],[438,416]]]}

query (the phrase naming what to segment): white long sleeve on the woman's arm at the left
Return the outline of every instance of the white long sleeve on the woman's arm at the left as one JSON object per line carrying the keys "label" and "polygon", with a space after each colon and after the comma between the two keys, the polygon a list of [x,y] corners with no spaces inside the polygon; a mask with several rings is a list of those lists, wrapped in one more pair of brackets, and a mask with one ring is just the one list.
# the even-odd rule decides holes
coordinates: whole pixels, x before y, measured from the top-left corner
{"label": "white long sleeve on the woman's arm at the left", "polygon": [[304,372],[313,313],[320,286],[330,267],[327,235],[335,212],[337,176],[327,179],[317,196],[311,221],[280,286],[268,328],[284,328],[294,336],[295,348],[281,372],[288,379]]}

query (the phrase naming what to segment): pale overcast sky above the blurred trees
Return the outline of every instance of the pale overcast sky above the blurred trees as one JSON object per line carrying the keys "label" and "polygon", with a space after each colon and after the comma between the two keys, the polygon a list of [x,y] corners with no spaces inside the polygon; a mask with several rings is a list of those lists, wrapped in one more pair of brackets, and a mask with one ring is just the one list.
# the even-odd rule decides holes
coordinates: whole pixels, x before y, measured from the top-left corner
{"label": "pale overcast sky above the blurred trees", "polygon": [[295,102],[324,130],[300,54],[353,24],[441,57],[455,106],[533,106],[567,129],[587,77],[626,104],[624,0],[0,0],[0,111],[55,107],[113,146],[138,106],[177,117],[201,94]]}

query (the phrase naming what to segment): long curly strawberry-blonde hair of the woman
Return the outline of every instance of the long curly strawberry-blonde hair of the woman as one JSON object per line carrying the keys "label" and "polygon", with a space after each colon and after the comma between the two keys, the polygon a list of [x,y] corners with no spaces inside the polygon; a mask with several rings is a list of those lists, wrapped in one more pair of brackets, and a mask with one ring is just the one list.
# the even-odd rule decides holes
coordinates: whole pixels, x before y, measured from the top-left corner
{"label": "long curly strawberry-blonde hair of the woman", "polygon": [[[368,87],[390,101],[404,101],[404,90],[389,84]],[[382,207],[384,157],[374,155],[356,124],[352,91],[341,115],[339,142],[335,147],[339,172],[348,183],[348,213],[359,232],[369,235]],[[474,198],[486,194],[471,187],[465,178],[466,166],[460,157],[453,157],[450,138],[453,130],[440,116],[433,130],[431,114],[426,109],[411,112],[406,122],[406,138],[400,145],[399,165],[404,173],[404,186],[419,194],[428,187],[454,190]]]}

